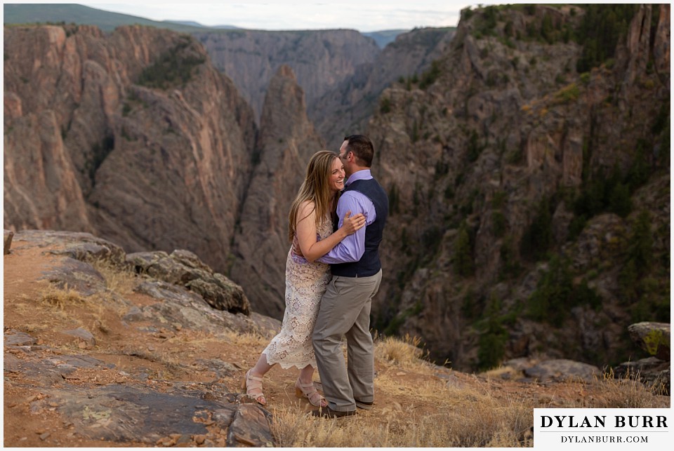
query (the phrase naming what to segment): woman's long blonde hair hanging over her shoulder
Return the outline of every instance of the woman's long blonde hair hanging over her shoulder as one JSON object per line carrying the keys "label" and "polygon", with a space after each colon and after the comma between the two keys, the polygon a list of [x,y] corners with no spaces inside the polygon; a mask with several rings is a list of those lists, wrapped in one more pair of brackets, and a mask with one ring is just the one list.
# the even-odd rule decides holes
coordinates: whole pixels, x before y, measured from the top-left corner
{"label": "woman's long blonde hair hanging over her shoulder", "polygon": [[297,223],[304,218],[298,218],[300,206],[305,201],[310,201],[316,211],[316,228],[323,222],[323,218],[335,213],[336,201],[339,193],[333,194],[330,189],[330,175],[332,173],[332,163],[338,155],[329,150],[322,150],[313,154],[307,165],[307,174],[304,182],[295,196],[295,200],[290,206],[288,215],[288,238],[293,241],[297,231]]}

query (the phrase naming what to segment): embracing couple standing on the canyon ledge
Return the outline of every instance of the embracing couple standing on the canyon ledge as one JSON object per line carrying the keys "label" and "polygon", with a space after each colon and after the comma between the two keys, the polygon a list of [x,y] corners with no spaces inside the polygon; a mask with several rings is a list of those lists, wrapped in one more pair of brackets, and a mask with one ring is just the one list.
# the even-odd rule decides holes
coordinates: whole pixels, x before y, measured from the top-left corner
{"label": "embracing couple standing on the canyon ledge", "polygon": [[[347,417],[356,408],[372,408],[369,314],[381,283],[378,249],[388,216],[388,197],[370,173],[373,156],[368,137],[351,135],[344,138],[339,154],[321,151],[309,161],[289,214],[293,246],[286,259],[281,332],[242,384],[261,405],[267,403],[262,378],[278,363],[300,370],[296,394],[319,408],[312,411],[316,417]],[[315,368],[325,397],[312,382]]]}

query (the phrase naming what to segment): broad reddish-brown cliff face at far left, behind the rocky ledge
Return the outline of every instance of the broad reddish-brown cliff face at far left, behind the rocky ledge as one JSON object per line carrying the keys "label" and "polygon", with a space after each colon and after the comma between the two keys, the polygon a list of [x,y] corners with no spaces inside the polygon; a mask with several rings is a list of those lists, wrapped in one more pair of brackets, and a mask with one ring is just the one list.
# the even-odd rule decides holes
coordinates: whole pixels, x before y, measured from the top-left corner
{"label": "broad reddish-brown cliff face at far left, behind the rocky ledge", "polygon": [[187,248],[225,268],[253,112],[190,36],[5,27],[5,227]]}

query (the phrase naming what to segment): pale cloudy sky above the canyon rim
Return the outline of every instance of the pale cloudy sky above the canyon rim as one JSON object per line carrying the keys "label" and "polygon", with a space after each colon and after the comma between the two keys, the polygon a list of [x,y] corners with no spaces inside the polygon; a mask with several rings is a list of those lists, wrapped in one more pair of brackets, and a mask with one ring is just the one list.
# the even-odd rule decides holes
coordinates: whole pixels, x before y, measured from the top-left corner
{"label": "pale cloudy sky above the canyon rim", "polygon": [[[485,5],[490,3],[497,2],[482,2]],[[447,0],[225,0],[205,3],[140,0],[134,4],[110,4],[104,1],[85,1],[80,4],[152,20],[187,20],[207,26],[234,25],[267,30],[348,28],[359,32],[455,27],[462,8],[477,7],[477,4]]]}

